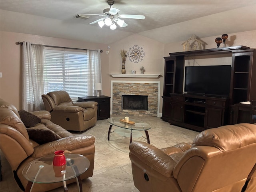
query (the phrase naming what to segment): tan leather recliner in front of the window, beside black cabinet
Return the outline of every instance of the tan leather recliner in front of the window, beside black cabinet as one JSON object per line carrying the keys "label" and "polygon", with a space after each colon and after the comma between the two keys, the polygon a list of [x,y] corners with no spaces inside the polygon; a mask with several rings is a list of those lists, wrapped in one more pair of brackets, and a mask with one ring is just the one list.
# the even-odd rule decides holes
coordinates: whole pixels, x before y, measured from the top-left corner
{"label": "tan leather recliner in front of the window, beside black cabinet", "polygon": [[52,122],[66,130],[84,131],[97,121],[98,103],[72,102],[66,91],[53,91],[42,95],[45,110],[52,116]]}

